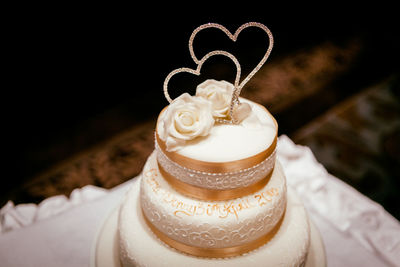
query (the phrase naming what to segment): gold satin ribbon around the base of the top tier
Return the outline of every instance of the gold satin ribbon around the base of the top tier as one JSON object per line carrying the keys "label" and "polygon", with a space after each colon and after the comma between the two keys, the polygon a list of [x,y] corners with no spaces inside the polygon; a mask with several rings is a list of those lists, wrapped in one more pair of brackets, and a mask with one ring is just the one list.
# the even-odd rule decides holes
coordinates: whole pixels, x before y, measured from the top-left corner
{"label": "gold satin ribbon around the base of the top tier", "polygon": [[164,177],[164,179],[176,191],[181,192],[182,194],[187,195],[189,197],[198,198],[202,200],[213,200],[213,201],[222,201],[222,200],[239,198],[257,192],[268,183],[273,172],[272,169],[266,177],[260,179],[259,181],[247,187],[238,187],[227,190],[217,190],[217,189],[199,187],[182,182],[181,180],[176,179],[173,175],[165,171],[164,168],[159,163],[158,163],[158,169],[161,175]]}

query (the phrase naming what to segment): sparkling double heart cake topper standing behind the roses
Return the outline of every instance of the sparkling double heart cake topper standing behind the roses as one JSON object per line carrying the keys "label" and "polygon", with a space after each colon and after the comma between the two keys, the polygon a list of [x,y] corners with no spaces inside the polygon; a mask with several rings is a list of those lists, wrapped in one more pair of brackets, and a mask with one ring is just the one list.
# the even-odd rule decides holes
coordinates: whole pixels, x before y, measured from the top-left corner
{"label": "sparkling double heart cake topper standing behind the roses", "polygon": [[[196,54],[195,54],[195,52],[194,52],[194,49],[193,49],[193,42],[194,42],[194,39],[195,39],[196,35],[197,35],[200,31],[205,30],[205,29],[209,29],[209,28],[219,29],[219,30],[221,30],[222,32],[224,32],[224,33],[229,37],[229,39],[231,39],[233,42],[236,42],[236,40],[237,40],[239,34],[240,34],[244,29],[247,29],[247,28],[250,28],[250,27],[256,27],[256,28],[262,29],[262,30],[268,35],[268,38],[269,38],[269,45],[268,45],[268,48],[267,48],[267,50],[266,50],[264,56],[261,58],[261,60],[260,60],[260,61],[258,62],[258,64],[255,66],[255,68],[247,75],[247,77],[244,78],[244,79],[242,80],[242,82],[240,82],[240,78],[241,78],[241,66],[240,66],[240,64],[239,64],[239,61],[236,59],[236,57],[233,56],[231,53],[229,53],[229,52],[227,52],[227,51],[224,51],[224,50],[214,50],[214,51],[208,52],[208,53],[207,53],[205,56],[203,56],[201,59],[198,59],[198,58],[197,58],[197,56],[196,56]],[[274,45],[274,39],[273,39],[273,36],[272,36],[271,31],[268,29],[267,26],[265,26],[264,24],[258,23],[258,22],[248,22],[248,23],[243,24],[242,26],[240,26],[240,27],[236,30],[235,34],[232,34],[227,28],[225,28],[224,26],[222,26],[222,25],[220,25],[220,24],[217,24],[217,23],[207,23],[207,24],[203,24],[203,25],[197,27],[197,28],[193,31],[193,33],[192,33],[192,35],[190,36],[190,39],[189,39],[189,52],[190,52],[190,56],[192,57],[193,61],[197,64],[197,68],[196,68],[196,69],[191,69],[191,68],[185,68],[185,67],[183,67],[183,68],[178,68],[178,69],[175,69],[175,70],[171,71],[171,72],[168,74],[168,76],[165,78],[165,81],[164,81],[164,87],[163,87],[163,89],[164,89],[165,98],[168,100],[169,103],[171,103],[171,102],[173,101],[173,100],[171,99],[171,97],[169,96],[169,93],[168,93],[168,83],[169,83],[170,79],[171,79],[174,75],[176,75],[176,74],[178,74],[178,73],[186,72],[186,73],[191,73],[191,74],[194,74],[194,75],[199,76],[199,75],[200,75],[201,68],[202,68],[204,62],[207,61],[210,57],[217,56],[217,55],[225,56],[225,57],[228,57],[230,60],[232,60],[233,63],[235,64],[235,66],[236,66],[236,77],[235,77],[235,81],[234,81],[234,84],[233,84],[233,86],[234,86],[234,91],[233,91],[233,94],[232,94],[232,99],[231,99],[231,104],[230,104],[230,117],[232,118],[232,112],[233,112],[233,109],[234,109],[235,105],[240,105],[240,102],[239,102],[239,95],[240,95],[240,92],[241,92],[243,86],[254,76],[254,74],[257,73],[257,71],[258,71],[258,70],[264,65],[264,63],[267,61],[269,55],[271,54],[273,45]],[[222,121],[220,121],[220,122],[222,122],[222,123],[234,123],[233,119],[230,119],[230,120],[222,120]]]}

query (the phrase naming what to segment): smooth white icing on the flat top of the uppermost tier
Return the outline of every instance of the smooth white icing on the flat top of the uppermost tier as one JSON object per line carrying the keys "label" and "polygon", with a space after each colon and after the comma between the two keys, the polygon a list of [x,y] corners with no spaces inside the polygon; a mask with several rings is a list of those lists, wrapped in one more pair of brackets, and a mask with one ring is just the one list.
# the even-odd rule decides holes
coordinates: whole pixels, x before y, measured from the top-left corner
{"label": "smooth white icing on the flat top of the uppermost tier", "polygon": [[[240,124],[215,124],[207,136],[187,141],[176,152],[201,161],[228,162],[248,158],[267,149],[277,132],[273,117],[259,104],[244,98],[240,101],[248,103],[252,109]],[[163,131],[163,127],[163,121],[159,120],[157,132]]]}

